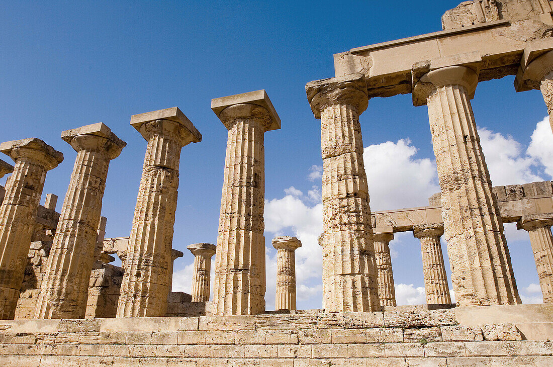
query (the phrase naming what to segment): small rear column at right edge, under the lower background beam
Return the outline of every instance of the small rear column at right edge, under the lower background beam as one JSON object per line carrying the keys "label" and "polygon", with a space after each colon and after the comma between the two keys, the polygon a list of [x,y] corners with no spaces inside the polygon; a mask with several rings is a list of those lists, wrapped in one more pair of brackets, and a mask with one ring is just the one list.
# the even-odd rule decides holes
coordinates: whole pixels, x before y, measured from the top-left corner
{"label": "small rear column at right edge, under the lower background beam", "polygon": [[518,227],[528,231],[544,303],[553,303],[553,213],[523,216]]}

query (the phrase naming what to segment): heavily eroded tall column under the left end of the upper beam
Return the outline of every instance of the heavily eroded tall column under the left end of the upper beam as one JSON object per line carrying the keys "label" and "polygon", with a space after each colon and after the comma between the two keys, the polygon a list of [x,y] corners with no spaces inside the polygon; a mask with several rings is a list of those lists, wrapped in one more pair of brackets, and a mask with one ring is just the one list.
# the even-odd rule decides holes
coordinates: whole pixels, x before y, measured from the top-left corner
{"label": "heavily eroded tall column under the left end of the upper beam", "polygon": [[326,312],[378,311],[377,266],[359,114],[368,105],[362,74],[307,83],[321,119],[322,282]]}

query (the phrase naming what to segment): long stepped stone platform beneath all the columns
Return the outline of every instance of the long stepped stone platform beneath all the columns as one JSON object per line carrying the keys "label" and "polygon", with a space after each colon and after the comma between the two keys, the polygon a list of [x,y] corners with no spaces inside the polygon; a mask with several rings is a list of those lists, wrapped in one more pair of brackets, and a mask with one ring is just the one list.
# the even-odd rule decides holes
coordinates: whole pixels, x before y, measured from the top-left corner
{"label": "long stepped stone platform beneath all the columns", "polygon": [[3,320],[0,365],[553,365],[552,305],[428,308]]}

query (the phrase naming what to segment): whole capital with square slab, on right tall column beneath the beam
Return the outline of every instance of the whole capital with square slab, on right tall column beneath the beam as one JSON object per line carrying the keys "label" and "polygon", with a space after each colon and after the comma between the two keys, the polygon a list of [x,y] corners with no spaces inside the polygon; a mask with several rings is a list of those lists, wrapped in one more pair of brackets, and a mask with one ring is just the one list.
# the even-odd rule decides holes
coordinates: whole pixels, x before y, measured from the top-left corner
{"label": "whole capital with square slab, on right tall column beneath the beam", "polygon": [[[472,70],[475,77],[468,77],[467,75],[457,75],[456,72],[459,69],[452,68],[453,66],[463,66],[469,70]],[[444,81],[461,81],[465,85],[468,91],[469,98],[474,98],[474,92],[478,84],[478,74],[482,66],[482,56],[478,51],[471,53],[450,55],[445,57],[439,57],[437,59],[425,60],[416,62],[411,68],[411,82],[413,86],[413,106],[424,106],[426,104],[426,98],[430,93],[430,90],[434,88],[436,83]],[[440,75],[439,78],[432,77],[430,72],[442,69],[448,77],[444,78],[444,75]],[[436,74],[436,73],[435,73]],[[439,81],[437,80],[439,79]]]}

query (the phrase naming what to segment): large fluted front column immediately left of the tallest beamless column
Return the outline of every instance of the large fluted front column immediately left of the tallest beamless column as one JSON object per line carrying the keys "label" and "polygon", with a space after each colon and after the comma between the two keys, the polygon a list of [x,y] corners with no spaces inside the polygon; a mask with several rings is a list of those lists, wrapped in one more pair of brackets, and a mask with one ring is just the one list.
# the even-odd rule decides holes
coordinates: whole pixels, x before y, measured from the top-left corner
{"label": "large fluted front column immediately left of the tallest beamless column", "polygon": [[134,115],[131,125],[148,147],[123,260],[117,317],[165,316],[180,152],[202,135],[177,107]]}

